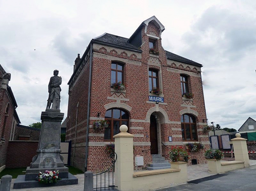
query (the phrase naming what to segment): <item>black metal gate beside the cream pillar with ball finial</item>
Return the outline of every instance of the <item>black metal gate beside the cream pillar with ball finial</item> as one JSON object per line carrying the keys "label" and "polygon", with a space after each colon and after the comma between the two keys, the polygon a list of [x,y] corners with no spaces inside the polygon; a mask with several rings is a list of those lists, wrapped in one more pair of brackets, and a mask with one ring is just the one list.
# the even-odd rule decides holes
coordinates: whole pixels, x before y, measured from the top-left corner
{"label": "black metal gate beside the cream pillar with ball finial", "polygon": [[[114,190],[115,186],[114,185],[114,171],[115,171],[115,162],[116,162],[116,159],[117,159],[117,155],[116,153],[111,153],[110,154],[110,158],[112,159],[111,163],[112,163],[112,166],[109,167],[106,171],[104,172],[101,172],[99,174],[95,174],[93,176],[96,176],[96,187],[93,188],[93,189],[96,189],[96,190]],[[111,172],[112,171],[112,172]],[[112,178],[110,177],[111,176],[111,173],[112,173]],[[99,181],[99,185],[98,185],[98,181]]]}

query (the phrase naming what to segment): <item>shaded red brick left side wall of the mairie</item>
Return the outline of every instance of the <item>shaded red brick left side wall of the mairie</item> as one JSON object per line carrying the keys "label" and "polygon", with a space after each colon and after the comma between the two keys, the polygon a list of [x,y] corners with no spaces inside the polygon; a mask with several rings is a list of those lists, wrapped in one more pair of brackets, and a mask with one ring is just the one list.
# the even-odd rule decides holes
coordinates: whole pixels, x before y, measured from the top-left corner
{"label": "shaded red brick left side wall of the mairie", "polygon": [[[89,60],[82,69],[79,82],[69,89],[66,141],[72,140],[71,165],[85,169],[85,142],[87,131],[87,104],[89,85]],[[78,108],[77,108],[77,104]],[[77,126],[76,110],[78,109]],[[76,130],[76,134],[75,134]],[[76,136],[76,138],[75,138]],[[75,140],[76,139],[76,140]],[[76,146],[75,146],[76,142]],[[75,150],[75,152],[74,152]],[[74,159],[74,160],[73,160]]]}

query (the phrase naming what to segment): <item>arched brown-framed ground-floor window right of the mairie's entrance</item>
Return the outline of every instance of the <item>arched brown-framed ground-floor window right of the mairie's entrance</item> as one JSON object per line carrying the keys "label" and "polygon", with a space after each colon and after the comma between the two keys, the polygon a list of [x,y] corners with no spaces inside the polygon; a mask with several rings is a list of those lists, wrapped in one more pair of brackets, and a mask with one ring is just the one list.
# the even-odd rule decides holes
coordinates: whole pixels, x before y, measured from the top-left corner
{"label": "arched brown-framed ground-floor window right of the mairie's entrance", "polygon": [[197,141],[196,119],[194,116],[184,114],[181,116],[182,140]]}

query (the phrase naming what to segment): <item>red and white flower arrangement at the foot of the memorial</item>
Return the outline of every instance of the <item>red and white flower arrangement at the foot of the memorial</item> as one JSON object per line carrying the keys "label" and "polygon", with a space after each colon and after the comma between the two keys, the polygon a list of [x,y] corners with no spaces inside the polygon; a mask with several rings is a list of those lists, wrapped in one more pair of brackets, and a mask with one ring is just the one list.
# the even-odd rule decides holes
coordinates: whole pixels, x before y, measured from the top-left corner
{"label": "red and white flower arrangement at the foot of the memorial", "polygon": [[44,173],[39,172],[38,176],[36,177],[36,180],[42,184],[56,183],[60,179],[61,178],[59,178],[59,170],[57,171],[46,170]]}

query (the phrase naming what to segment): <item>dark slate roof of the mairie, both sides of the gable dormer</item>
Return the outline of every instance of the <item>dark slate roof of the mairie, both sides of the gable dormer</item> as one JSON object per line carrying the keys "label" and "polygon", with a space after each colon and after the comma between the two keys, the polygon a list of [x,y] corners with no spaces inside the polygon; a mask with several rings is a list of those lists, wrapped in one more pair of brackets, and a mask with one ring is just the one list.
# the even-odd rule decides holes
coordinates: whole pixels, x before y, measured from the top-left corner
{"label": "dark slate roof of the mairie, both sides of the gable dormer", "polygon": [[[103,42],[103,43],[107,43],[110,46],[121,46],[121,47],[125,47],[128,49],[133,49],[136,51],[141,51],[139,48],[133,46],[132,44],[128,43],[128,38],[124,38],[121,36],[116,36],[116,35],[112,35],[112,34],[108,34],[108,33],[104,33],[103,35],[96,37],[93,39],[93,41],[97,41],[97,42]],[[172,52],[166,51],[166,56],[167,59],[170,60],[175,60],[175,61],[179,61],[181,63],[186,63],[186,64],[191,64],[191,65],[195,65],[195,66],[199,66],[202,67],[201,64],[196,63],[192,60],[189,60],[187,58],[184,58],[182,56],[178,56],[177,54],[174,54]]]}

